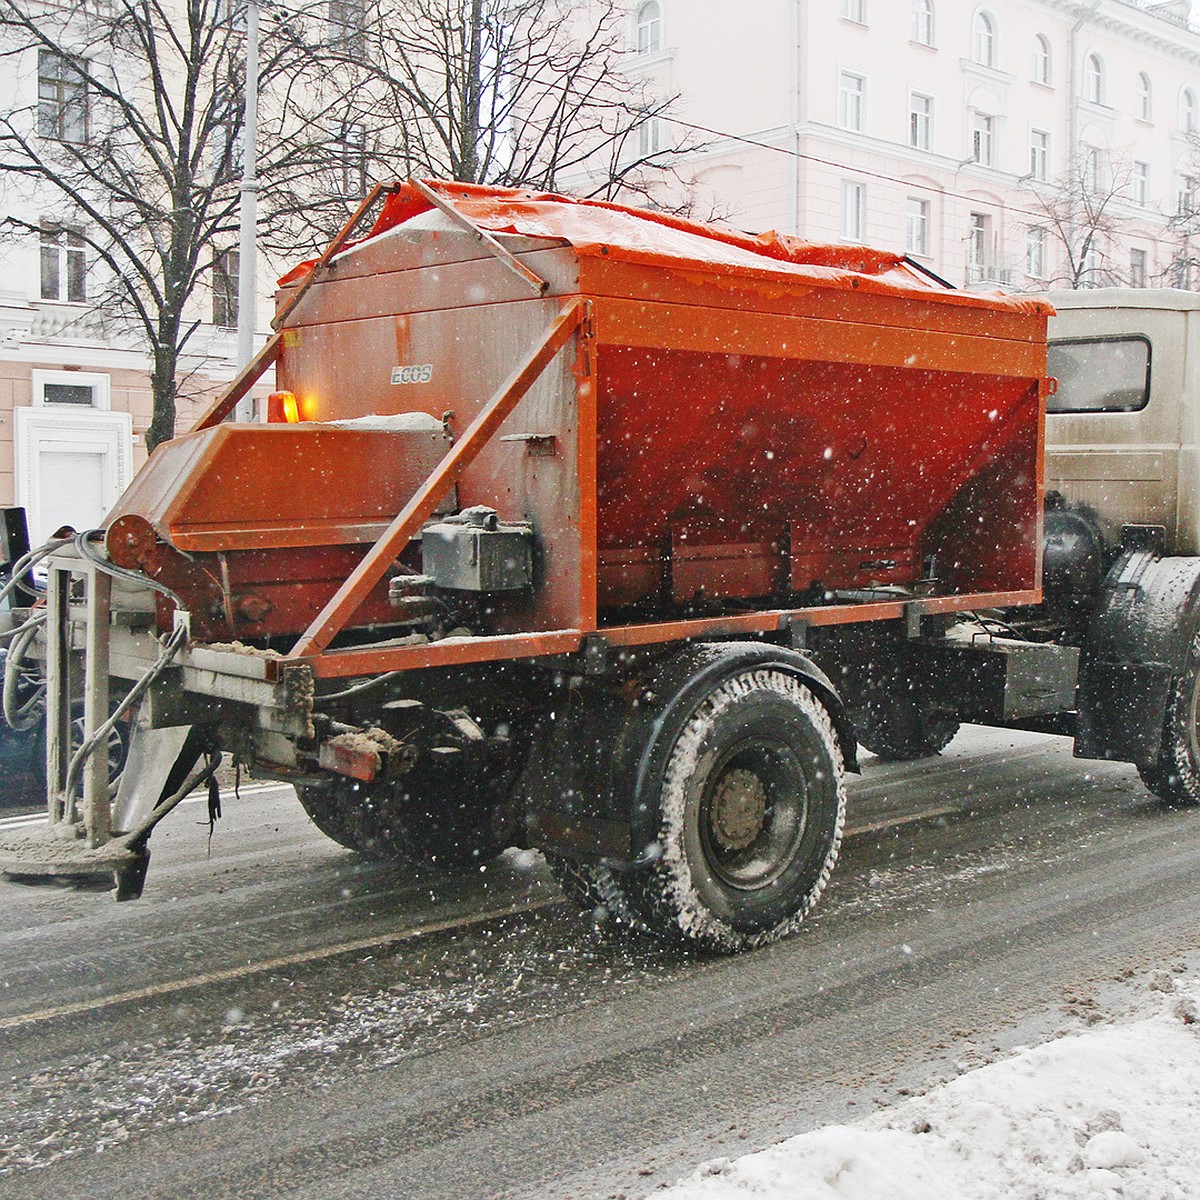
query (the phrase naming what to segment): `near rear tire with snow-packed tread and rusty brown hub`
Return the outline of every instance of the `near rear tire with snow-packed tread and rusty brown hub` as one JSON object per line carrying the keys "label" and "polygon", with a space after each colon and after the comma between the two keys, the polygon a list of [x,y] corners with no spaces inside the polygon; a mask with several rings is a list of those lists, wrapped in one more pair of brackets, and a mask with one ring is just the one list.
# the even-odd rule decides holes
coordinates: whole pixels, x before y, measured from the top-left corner
{"label": "near rear tire with snow-packed tread and rusty brown hub", "polygon": [[[678,728],[678,726],[673,726]],[[821,895],[845,818],[841,751],[792,673],[743,667],[690,703],[658,778],[658,857],[628,876],[652,931],[733,953],[791,934]]]}

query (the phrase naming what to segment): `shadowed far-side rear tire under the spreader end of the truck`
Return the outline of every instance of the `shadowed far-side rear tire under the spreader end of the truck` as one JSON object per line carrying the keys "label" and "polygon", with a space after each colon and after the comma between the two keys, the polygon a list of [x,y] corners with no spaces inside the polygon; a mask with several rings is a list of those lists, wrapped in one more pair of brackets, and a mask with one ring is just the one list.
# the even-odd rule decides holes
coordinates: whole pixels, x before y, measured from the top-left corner
{"label": "shadowed far-side rear tire under the spreader end of the truck", "polygon": [[312,823],[364,858],[467,870],[516,841],[509,782],[426,761],[386,784],[331,776],[295,790]]}

